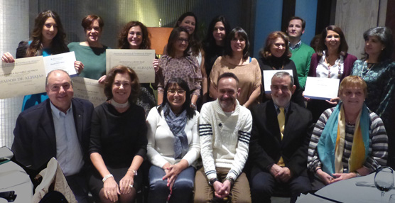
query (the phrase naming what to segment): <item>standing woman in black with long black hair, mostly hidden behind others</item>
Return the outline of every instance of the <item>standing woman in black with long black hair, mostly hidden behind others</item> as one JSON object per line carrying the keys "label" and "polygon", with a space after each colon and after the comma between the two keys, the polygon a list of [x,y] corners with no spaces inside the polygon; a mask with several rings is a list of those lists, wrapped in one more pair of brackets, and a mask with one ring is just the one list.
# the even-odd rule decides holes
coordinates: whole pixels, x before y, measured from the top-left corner
{"label": "standing woman in black with long black hair, mostly hidden behind others", "polygon": [[[224,16],[217,16],[212,19],[208,26],[207,37],[204,41],[205,70],[207,73],[207,79],[210,78],[212,65],[214,65],[217,57],[224,55],[225,40],[229,33],[230,26]],[[207,81],[207,84],[210,85],[210,81]],[[205,95],[203,95],[203,97],[205,97]]]}

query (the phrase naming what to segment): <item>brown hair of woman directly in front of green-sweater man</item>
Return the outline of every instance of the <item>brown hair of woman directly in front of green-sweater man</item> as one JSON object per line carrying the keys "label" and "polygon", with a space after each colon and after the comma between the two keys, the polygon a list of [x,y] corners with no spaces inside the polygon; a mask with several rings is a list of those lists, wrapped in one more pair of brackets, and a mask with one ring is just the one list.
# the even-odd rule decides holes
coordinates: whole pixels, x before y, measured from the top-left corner
{"label": "brown hair of woman directly in front of green-sweater man", "polygon": [[289,38],[286,35],[286,33],[283,33],[281,31],[274,31],[267,36],[265,47],[259,52],[259,55],[261,55],[261,57],[264,57],[265,59],[269,59],[269,58],[273,57],[270,47],[271,47],[271,45],[274,44],[274,42],[276,41],[277,38],[283,39],[284,43],[286,44],[286,47],[285,47],[286,51],[283,53],[283,55],[281,57],[282,58],[290,58],[291,57],[291,51],[289,50]]}

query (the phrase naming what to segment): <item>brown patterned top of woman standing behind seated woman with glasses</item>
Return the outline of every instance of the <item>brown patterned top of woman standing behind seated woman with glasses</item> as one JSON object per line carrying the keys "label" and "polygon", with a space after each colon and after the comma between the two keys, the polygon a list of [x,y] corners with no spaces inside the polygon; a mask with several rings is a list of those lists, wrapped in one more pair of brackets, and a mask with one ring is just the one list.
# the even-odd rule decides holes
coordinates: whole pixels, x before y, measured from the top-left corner
{"label": "brown patterned top of woman standing behind seated woman with glasses", "polygon": [[200,95],[202,72],[196,57],[175,58],[163,55],[159,59],[159,67],[161,73],[158,75],[158,92],[163,92],[169,79],[180,77],[188,83],[191,94]]}

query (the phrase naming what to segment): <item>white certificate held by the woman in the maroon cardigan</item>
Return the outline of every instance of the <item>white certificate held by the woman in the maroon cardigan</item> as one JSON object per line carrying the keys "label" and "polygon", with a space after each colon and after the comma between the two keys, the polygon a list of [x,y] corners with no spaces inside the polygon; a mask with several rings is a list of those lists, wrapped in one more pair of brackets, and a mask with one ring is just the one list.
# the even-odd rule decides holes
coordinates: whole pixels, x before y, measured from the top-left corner
{"label": "white certificate held by the woman in the maroon cardigan", "polygon": [[339,79],[307,77],[304,96],[310,99],[330,100],[337,97]]}

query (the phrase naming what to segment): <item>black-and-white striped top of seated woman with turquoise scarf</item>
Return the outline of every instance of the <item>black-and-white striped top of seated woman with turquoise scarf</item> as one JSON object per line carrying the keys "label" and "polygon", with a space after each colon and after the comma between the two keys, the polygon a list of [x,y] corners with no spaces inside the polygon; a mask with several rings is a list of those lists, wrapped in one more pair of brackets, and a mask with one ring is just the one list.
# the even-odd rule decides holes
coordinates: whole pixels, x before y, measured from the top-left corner
{"label": "black-and-white striped top of seated woman with turquoise scarf", "polygon": [[[310,138],[310,145],[308,147],[308,169],[312,172],[315,171],[315,168],[322,166],[320,158],[318,158],[317,144],[333,109],[335,108],[327,109],[323,112],[320,119],[318,119],[317,124],[315,124],[313,135]],[[386,158],[388,155],[388,137],[386,136],[382,119],[380,119],[380,117],[374,112],[370,112],[369,117],[369,157],[365,160],[363,167],[370,171],[374,171],[380,165],[386,165]],[[351,126],[346,124],[345,146],[342,157],[343,169],[345,170],[344,172],[348,172],[348,160],[351,155],[354,130],[354,125]]]}

